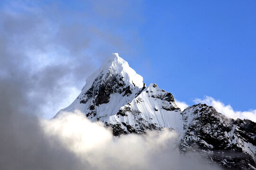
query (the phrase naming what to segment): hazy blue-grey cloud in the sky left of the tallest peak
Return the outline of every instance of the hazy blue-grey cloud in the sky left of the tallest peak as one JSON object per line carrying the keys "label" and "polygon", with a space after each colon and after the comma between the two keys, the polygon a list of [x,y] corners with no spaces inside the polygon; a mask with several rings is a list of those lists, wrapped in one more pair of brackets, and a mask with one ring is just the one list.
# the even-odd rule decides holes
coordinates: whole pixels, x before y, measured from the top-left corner
{"label": "hazy blue-grey cloud in the sky left of the tallest peak", "polygon": [[[1,82],[18,81],[16,88],[24,88],[23,100],[30,101],[28,107],[50,118],[71,102],[65,101],[72,95],[71,89],[80,90],[86,76],[111,52],[134,50],[128,50],[130,42],[116,34],[118,27],[106,23],[112,14],[102,19],[98,10],[70,11],[61,3],[38,4],[12,1],[2,5],[0,76]],[[100,4],[91,2],[95,8],[101,8]],[[111,8],[111,4],[104,8]],[[119,4],[118,8],[122,16],[131,6]],[[105,13],[109,12],[113,13]],[[123,17],[114,20],[122,23]],[[46,113],[46,107],[55,109]]]}

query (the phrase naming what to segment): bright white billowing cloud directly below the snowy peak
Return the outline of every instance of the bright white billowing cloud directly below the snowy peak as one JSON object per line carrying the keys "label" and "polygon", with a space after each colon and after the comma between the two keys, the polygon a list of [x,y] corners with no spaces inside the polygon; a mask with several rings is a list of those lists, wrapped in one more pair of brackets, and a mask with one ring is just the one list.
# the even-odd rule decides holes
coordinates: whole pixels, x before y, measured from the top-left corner
{"label": "bright white billowing cloud directly below the snowy peak", "polygon": [[194,154],[180,154],[177,134],[167,128],[117,138],[101,122],[91,122],[78,110],[42,119],[40,124],[53,147],[60,144],[93,170],[219,169]]}

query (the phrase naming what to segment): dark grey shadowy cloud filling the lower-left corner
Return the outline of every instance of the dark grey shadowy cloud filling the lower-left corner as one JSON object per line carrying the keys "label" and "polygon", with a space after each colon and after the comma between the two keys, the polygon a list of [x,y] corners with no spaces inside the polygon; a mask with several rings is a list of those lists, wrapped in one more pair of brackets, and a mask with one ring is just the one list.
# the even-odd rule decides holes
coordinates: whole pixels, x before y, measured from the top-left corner
{"label": "dark grey shadowy cloud filling the lower-left corner", "polygon": [[84,167],[72,153],[49,144],[38,118],[29,114],[35,108],[24,100],[22,91],[26,87],[19,83],[15,78],[0,83],[0,169],[82,170]]}

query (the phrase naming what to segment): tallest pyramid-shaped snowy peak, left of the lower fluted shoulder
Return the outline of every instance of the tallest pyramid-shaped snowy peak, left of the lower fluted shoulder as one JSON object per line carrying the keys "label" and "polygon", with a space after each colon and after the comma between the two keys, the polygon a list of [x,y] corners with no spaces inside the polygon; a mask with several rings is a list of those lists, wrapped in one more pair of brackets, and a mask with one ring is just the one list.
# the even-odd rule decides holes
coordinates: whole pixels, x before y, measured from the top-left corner
{"label": "tallest pyramid-shaped snowy peak, left of the lower fluted shoulder", "polygon": [[131,102],[146,88],[143,77],[128,62],[113,53],[100,68],[86,79],[75,101],[61,111],[80,110],[91,120],[104,120]]}

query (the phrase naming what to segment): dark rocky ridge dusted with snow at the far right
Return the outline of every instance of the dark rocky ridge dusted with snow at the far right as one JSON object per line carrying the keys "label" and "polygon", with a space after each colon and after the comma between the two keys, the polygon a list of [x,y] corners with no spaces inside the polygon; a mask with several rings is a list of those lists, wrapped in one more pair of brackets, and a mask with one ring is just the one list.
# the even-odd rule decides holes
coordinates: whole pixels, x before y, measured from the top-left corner
{"label": "dark rocky ridge dusted with snow at the far right", "polygon": [[180,144],[182,152],[199,151],[226,169],[256,167],[256,153],[252,148],[247,150],[247,145],[256,145],[255,122],[228,119],[206,104],[193,105],[182,114],[186,130]]}

